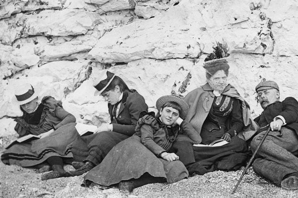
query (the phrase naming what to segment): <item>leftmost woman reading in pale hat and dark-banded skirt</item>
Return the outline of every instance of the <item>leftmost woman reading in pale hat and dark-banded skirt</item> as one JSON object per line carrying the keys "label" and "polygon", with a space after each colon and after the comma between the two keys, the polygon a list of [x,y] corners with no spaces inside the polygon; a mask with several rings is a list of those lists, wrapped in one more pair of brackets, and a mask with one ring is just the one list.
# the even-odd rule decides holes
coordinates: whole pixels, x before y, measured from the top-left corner
{"label": "leftmost woman reading in pale hat and dark-banded skirt", "polygon": [[[1,155],[4,164],[22,167],[36,166],[38,172],[63,169],[63,158],[71,159],[68,147],[75,140],[75,117],[62,107],[62,102],[46,96],[38,104],[38,97],[30,84],[23,84],[16,88],[16,103],[23,112],[15,119],[15,131],[19,137],[28,134],[40,135],[53,131],[47,137],[31,142],[13,144]],[[65,137],[65,133],[74,136]],[[63,138],[62,138],[63,137]]]}

